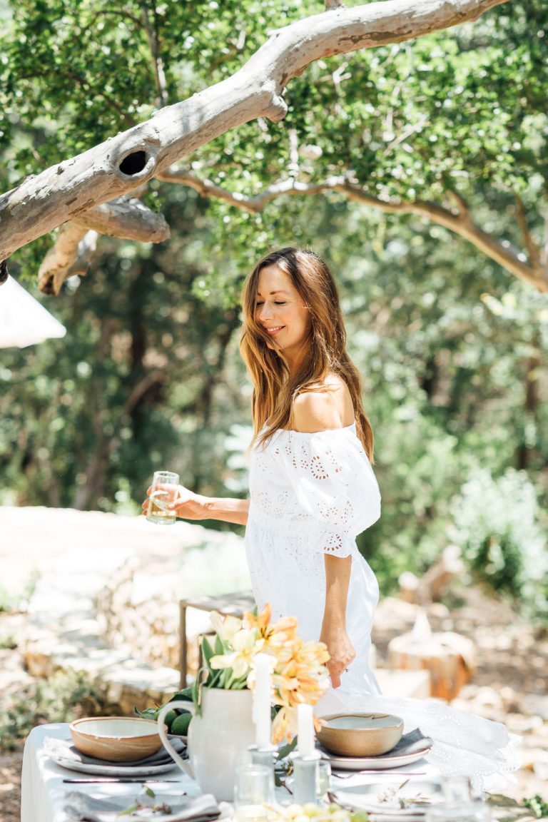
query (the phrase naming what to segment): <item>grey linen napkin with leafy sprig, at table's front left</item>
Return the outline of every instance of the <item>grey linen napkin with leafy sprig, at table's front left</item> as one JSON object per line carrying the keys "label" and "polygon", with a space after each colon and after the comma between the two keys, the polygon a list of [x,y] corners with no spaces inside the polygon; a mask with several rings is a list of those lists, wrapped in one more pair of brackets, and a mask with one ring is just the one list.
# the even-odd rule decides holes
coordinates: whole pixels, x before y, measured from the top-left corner
{"label": "grey linen napkin with leafy sprig, at table's front left", "polygon": [[[137,810],[128,819],[154,820],[154,822],[209,822],[216,820],[221,809],[211,793],[205,793],[201,797],[169,797],[156,796],[139,797],[148,807]],[[69,791],[65,796],[63,810],[67,817],[74,822],[120,822],[124,817],[120,817],[122,810],[135,804],[134,797],[109,797],[108,799],[95,799],[80,791]],[[154,803],[160,805],[165,802],[170,809],[169,813],[152,810]]]}

